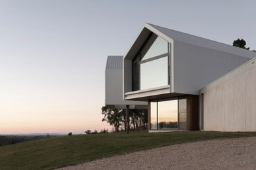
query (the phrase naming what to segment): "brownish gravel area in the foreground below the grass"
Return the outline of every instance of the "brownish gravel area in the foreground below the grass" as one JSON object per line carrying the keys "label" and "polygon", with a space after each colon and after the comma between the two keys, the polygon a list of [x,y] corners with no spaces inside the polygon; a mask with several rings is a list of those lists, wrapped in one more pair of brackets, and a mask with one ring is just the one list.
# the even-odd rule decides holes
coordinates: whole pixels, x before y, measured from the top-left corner
{"label": "brownish gravel area in the foreground below the grass", "polygon": [[61,169],[256,169],[256,137],[175,144]]}

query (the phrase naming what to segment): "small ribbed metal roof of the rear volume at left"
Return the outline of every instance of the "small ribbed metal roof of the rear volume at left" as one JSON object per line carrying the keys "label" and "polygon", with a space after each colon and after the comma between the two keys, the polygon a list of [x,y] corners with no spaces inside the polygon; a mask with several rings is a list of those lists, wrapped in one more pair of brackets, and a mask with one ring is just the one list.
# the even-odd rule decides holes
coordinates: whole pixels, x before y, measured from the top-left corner
{"label": "small ribbed metal roof of the rear volume at left", "polygon": [[106,69],[122,69],[123,56],[108,56]]}

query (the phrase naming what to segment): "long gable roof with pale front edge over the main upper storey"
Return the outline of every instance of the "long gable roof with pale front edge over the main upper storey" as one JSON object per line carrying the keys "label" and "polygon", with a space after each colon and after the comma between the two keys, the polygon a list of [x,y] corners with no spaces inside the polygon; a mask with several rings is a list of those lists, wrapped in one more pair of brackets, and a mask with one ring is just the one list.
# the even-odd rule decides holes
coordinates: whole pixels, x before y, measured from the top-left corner
{"label": "long gable roof with pale front edge over the main upper storey", "polygon": [[127,54],[125,54],[125,59],[131,59],[133,58],[133,56],[135,56],[136,52],[139,50],[138,46],[140,47],[142,45],[142,43],[146,40],[146,37],[148,37],[150,32],[155,33],[156,35],[162,37],[170,43],[173,43],[173,41],[179,41],[192,44],[195,46],[201,46],[203,48],[217,50],[220,52],[226,52],[228,54],[233,54],[236,56],[242,56],[245,58],[256,57],[256,52],[251,52],[249,50],[224,44],[222,42],[212,41],[195,35],[190,35],[188,33],[182,33],[180,31],[175,31],[173,29],[168,29],[165,27],[160,27],[158,25],[146,23],[144,24],[139,35],[131,45],[131,48],[129,48]]}

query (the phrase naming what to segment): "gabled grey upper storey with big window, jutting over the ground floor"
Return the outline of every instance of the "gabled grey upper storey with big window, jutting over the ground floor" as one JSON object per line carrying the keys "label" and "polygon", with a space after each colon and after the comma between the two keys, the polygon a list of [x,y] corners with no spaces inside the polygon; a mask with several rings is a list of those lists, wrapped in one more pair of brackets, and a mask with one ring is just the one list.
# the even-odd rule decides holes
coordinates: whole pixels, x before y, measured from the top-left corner
{"label": "gabled grey upper storey with big window, jutting over the ground floor", "polygon": [[144,24],[123,58],[123,99],[198,95],[256,52]]}

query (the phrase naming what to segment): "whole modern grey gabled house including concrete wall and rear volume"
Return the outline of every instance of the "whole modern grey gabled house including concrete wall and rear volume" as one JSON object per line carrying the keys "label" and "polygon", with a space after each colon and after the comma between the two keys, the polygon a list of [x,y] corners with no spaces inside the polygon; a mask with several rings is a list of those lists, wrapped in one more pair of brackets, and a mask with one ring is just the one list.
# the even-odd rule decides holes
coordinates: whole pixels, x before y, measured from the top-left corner
{"label": "whole modern grey gabled house including concrete wall and rear volume", "polygon": [[[144,24],[125,56],[108,57],[106,105],[147,105],[151,132],[256,131],[255,57],[256,52]],[[119,76],[112,73],[114,58],[122,59]]]}

